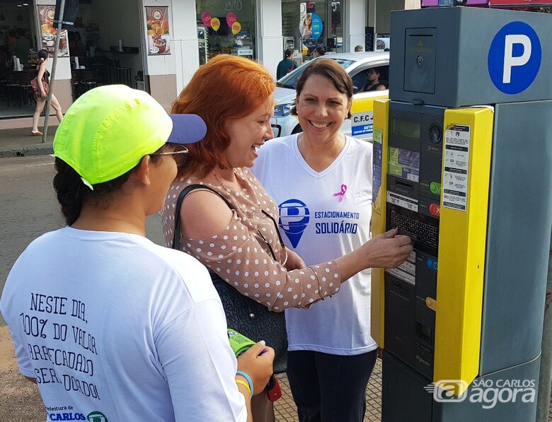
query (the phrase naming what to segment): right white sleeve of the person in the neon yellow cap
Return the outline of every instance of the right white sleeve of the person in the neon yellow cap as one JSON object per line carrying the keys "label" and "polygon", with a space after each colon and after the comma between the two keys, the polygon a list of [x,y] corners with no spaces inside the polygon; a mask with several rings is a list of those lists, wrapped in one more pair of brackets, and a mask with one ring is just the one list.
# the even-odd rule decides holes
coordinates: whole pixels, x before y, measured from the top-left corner
{"label": "right white sleeve of the person in the neon yellow cap", "polygon": [[246,421],[238,363],[218,300],[205,300],[169,322],[156,337],[175,420]]}

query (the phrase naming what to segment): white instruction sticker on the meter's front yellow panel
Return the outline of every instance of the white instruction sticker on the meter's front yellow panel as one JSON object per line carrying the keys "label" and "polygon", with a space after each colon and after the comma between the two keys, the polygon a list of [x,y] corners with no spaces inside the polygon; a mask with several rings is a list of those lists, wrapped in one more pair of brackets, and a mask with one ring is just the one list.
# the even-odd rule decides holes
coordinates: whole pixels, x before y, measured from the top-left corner
{"label": "white instruction sticker on the meter's front yellow panel", "polygon": [[466,211],[470,127],[454,124],[444,132],[443,206]]}

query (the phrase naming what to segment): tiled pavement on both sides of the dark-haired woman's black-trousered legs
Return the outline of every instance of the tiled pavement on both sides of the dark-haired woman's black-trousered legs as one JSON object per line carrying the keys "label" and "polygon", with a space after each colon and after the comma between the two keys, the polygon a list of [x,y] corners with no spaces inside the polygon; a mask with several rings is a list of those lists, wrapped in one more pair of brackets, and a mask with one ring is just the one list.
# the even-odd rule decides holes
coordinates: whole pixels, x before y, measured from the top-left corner
{"label": "tiled pavement on both sides of the dark-haired woman's black-trousered legs", "polygon": [[[274,413],[278,422],[297,421],[297,408],[293,402],[292,392],[285,374],[278,375],[282,398],[275,403]],[[366,416],[364,422],[379,422],[381,420],[381,360],[376,360],[372,377],[366,390]]]}

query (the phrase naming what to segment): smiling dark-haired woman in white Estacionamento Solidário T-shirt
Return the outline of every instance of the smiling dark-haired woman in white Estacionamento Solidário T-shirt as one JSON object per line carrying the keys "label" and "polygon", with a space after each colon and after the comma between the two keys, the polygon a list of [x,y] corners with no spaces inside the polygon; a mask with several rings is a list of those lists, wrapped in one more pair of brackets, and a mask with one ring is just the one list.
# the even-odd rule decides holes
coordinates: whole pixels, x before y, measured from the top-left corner
{"label": "smiling dark-haired woman in white Estacionamento Solid\u00e1rio T-shirt", "polygon": [[[351,117],[353,86],[336,61],[307,66],[296,90],[292,114],[303,132],[266,142],[253,173],[278,204],[285,246],[311,266],[376,240],[370,240],[372,144],[340,133]],[[396,234],[386,236],[404,239]],[[408,240],[405,247],[412,250]],[[363,266],[338,295],[285,311],[287,376],[300,422],[364,419],[377,354],[370,290],[370,269]]]}

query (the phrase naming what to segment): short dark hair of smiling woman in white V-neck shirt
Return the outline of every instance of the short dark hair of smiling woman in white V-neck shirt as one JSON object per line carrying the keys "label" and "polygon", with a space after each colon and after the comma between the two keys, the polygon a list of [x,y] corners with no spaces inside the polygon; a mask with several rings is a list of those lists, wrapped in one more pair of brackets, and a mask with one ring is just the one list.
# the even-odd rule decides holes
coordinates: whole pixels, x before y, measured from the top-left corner
{"label": "short dark hair of smiling woman in white V-neck shirt", "polygon": [[[301,95],[301,91],[305,86],[307,79],[312,75],[320,75],[324,78],[328,78],[332,81],[333,86],[340,93],[347,95],[348,100],[352,100],[352,79],[347,74],[343,66],[338,64],[337,61],[332,59],[316,59],[313,60],[311,64],[306,66],[303,74],[297,79],[297,84],[295,85],[295,91],[297,97]],[[292,115],[297,116],[297,100],[292,108]],[[347,119],[352,117],[351,112],[347,115]]]}

